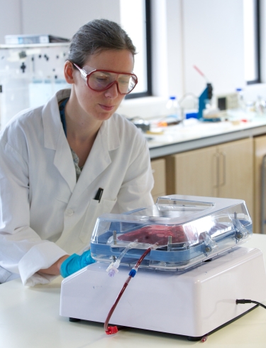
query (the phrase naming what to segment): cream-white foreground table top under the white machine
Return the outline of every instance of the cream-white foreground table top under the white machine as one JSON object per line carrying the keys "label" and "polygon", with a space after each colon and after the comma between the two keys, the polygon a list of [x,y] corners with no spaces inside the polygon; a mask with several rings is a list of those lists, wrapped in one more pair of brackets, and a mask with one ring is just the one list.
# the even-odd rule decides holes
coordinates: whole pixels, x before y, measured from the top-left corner
{"label": "cream-white foreground table top under the white machine", "polygon": [[[266,236],[253,235],[244,246],[260,248],[266,260]],[[254,270],[255,271],[255,270]],[[60,317],[60,283],[23,287],[20,280],[0,285],[0,347],[3,348],[135,348],[135,347],[266,347],[266,310],[257,307],[211,334],[206,342],[185,337],[126,328],[106,335],[103,324],[69,322]],[[160,309],[159,309],[160,310]]]}

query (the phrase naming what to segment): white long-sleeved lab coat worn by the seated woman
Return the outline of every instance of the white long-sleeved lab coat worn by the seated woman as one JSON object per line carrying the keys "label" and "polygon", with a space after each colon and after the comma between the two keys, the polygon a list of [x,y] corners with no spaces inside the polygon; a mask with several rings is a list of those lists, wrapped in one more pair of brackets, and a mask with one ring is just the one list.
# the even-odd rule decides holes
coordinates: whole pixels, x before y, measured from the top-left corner
{"label": "white long-sleeved lab coat worn by the seated woman", "polygon": [[[58,109],[58,101],[69,95],[61,90],[45,106],[20,112],[1,132],[2,281],[9,271],[24,285],[49,283],[54,276],[38,270],[88,248],[101,213],[153,204],[147,142],[118,114],[101,125],[76,183]],[[99,187],[104,189],[100,203],[94,199]]]}

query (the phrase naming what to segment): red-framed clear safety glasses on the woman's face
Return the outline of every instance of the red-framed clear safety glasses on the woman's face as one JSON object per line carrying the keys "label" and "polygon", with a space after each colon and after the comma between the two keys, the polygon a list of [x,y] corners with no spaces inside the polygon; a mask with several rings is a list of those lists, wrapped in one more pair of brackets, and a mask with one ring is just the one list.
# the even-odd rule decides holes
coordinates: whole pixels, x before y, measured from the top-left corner
{"label": "red-framed clear safety glasses on the woman's face", "polygon": [[[82,78],[87,82],[91,90],[101,92],[108,90],[114,83],[116,83],[118,92],[126,95],[131,93],[138,83],[138,78],[131,73],[118,73],[110,70],[98,70],[85,65],[80,68],[79,65],[72,63],[81,73]],[[89,71],[87,73],[87,71]]]}

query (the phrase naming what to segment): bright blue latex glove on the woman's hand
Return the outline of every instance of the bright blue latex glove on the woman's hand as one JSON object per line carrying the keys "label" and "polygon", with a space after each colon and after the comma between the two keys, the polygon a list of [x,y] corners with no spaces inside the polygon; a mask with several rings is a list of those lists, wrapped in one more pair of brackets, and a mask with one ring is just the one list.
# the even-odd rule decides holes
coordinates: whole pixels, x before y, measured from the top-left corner
{"label": "bright blue latex glove on the woman's hand", "polygon": [[60,267],[60,274],[63,278],[68,277],[72,273],[81,270],[82,268],[96,262],[91,255],[91,251],[84,251],[82,255],[73,254],[66,258]]}

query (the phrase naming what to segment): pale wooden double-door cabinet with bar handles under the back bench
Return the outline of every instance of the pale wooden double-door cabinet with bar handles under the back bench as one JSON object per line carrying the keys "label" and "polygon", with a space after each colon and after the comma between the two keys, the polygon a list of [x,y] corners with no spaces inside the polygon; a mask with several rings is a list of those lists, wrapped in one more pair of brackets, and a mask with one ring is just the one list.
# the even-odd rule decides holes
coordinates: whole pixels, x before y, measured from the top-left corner
{"label": "pale wooden double-door cabinet with bar handles under the back bench", "polygon": [[253,138],[165,158],[167,194],[243,199],[253,218]]}

